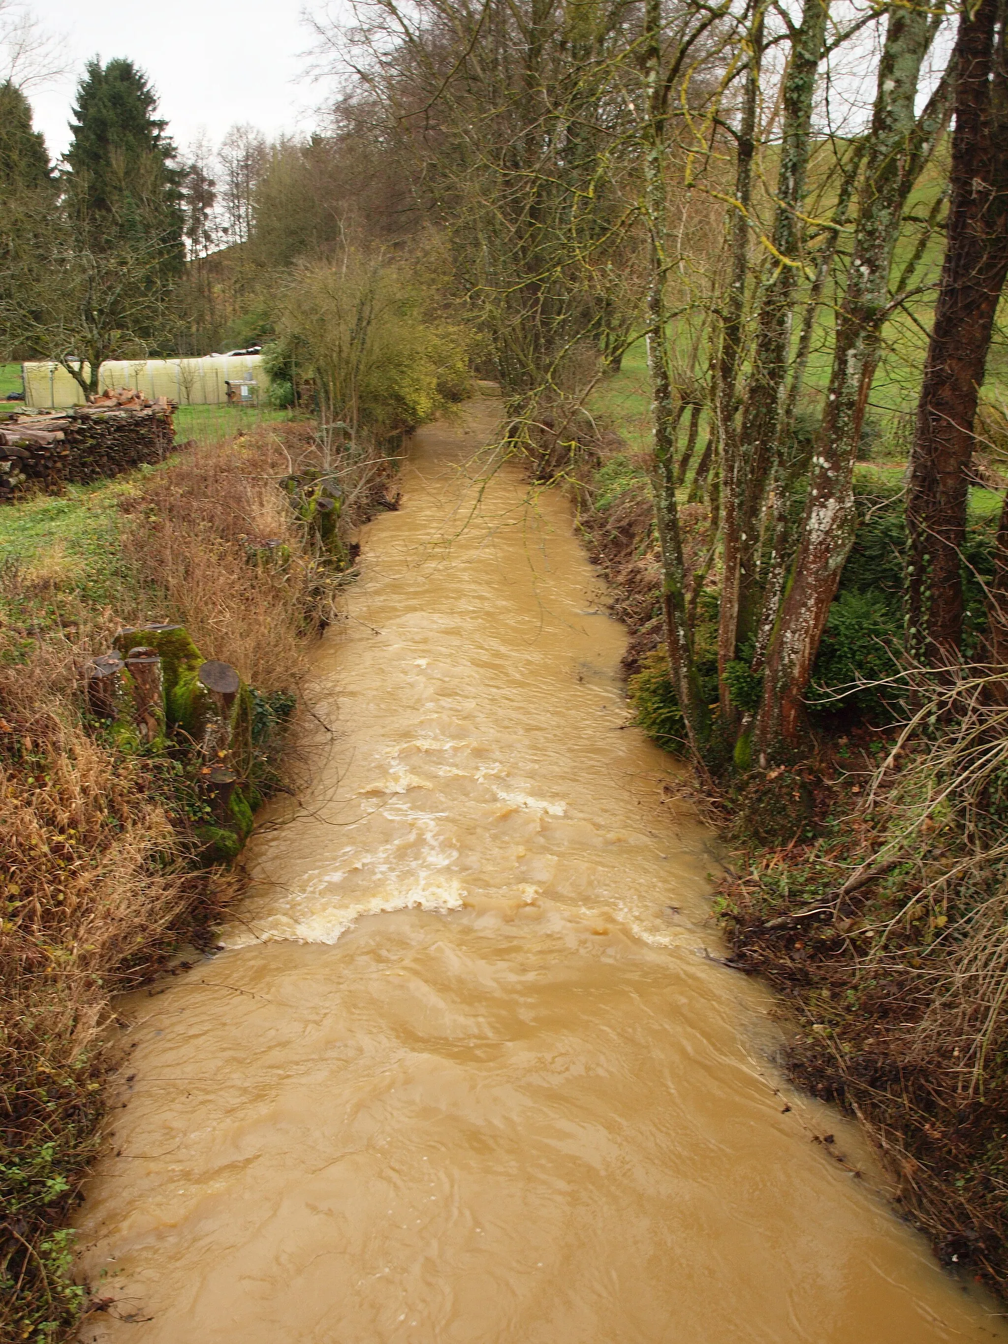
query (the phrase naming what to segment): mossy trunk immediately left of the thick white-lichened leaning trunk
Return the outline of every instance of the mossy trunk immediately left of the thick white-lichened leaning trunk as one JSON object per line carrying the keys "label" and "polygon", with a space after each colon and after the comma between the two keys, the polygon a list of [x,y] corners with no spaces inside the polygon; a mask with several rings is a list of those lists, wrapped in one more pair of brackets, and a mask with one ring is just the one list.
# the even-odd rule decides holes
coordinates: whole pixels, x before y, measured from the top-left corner
{"label": "mossy trunk immediately left of the thick white-lichened leaning trunk", "polygon": [[742,429],[732,473],[732,516],[726,509],[724,573],[720,630],[722,718],[737,718],[723,680],[724,664],[755,634],[759,618],[759,521],[774,460],[781,403],[788,378],[792,317],[800,280],[802,245],[801,202],[812,145],[812,105],[823,59],[829,0],[805,0],[792,38],[784,81],[777,204],[770,239],[773,265],[759,301],[753,368],[742,409]]}

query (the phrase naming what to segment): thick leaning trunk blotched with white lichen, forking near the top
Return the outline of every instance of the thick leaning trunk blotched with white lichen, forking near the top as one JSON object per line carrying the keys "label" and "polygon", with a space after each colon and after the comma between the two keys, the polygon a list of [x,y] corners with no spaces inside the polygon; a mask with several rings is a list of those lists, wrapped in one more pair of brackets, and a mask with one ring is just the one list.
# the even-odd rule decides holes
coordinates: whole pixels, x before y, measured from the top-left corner
{"label": "thick leaning trunk blotched with white lichen, forking near the top", "polygon": [[798,742],[802,698],[853,542],[853,466],[890,310],[892,253],[907,195],[948,120],[948,75],[921,118],[914,118],[921,66],[935,31],[923,7],[890,8],[847,292],[836,319],[829,395],[816,435],[801,542],[766,653],[757,723],[763,758]]}

